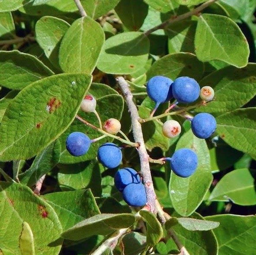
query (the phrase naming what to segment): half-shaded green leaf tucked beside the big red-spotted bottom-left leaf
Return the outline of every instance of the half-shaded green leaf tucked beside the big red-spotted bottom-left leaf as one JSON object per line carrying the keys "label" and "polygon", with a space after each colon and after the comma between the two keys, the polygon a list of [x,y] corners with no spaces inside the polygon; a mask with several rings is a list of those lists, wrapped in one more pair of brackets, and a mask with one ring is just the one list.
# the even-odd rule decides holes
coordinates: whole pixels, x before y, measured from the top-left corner
{"label": "half-shaded green leaf tucked beside the big red-spotted bottom-left leaf", "polygon": [[73,227],[81,220],[100,214],[90,189],[54,192],[42,197],[54,208],[63,230]]}

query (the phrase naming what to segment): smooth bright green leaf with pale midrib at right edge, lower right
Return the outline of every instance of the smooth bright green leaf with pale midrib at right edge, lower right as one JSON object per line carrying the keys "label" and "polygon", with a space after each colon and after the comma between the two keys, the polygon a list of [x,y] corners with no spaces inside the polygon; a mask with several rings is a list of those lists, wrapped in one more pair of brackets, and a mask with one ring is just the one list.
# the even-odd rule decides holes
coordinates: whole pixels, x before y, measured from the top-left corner
{"label": "smooth bright green leaf with pale midrib at right edge, lower right", "polygon": [[237,169],[224,175],[209,197],[212,201],[229,201],[237,205],[256,205],[254,178],[248,169]]}

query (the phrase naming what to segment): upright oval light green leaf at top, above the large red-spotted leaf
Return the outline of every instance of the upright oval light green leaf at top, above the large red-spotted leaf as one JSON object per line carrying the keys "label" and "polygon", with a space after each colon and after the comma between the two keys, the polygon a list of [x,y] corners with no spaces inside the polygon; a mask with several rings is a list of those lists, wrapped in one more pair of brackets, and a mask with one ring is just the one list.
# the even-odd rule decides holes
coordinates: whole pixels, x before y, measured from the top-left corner
{"label": "upright oval light green leaf at top, above the large red-spotted leaf", "polygon": [[59,63],[63,71],[92,73],[104,40],[98,22],[88,16],[77,19],[61,41]]}

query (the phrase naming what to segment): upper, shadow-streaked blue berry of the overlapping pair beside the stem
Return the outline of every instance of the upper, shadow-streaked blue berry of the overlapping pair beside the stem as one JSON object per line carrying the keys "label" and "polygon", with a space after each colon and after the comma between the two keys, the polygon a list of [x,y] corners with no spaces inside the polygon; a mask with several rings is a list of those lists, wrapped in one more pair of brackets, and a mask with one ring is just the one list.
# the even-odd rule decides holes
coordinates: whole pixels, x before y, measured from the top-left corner
{"label": "upper, shadow-streaked blue berry of the overlapping pair beside the stem", "polygon": [[141,178],[134,169],[125,167],[115,173],[114,181],[116,188],[122,191],[130,183],[140,183]]}

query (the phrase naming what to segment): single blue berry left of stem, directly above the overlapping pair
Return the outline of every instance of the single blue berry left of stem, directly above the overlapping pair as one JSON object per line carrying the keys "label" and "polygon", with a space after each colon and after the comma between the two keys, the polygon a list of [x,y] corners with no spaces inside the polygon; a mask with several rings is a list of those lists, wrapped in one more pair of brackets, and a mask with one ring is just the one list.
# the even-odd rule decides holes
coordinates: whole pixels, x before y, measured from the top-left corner
{"label": "single blue berry left of stem, directly above the overlapping pair", "polygon": [[105,167],[118,167],[122,161],[122,151],[114,143],[107,142],[99,147],[98,160]]}

